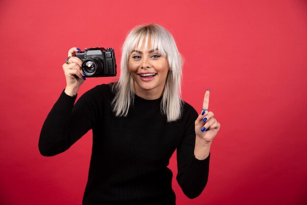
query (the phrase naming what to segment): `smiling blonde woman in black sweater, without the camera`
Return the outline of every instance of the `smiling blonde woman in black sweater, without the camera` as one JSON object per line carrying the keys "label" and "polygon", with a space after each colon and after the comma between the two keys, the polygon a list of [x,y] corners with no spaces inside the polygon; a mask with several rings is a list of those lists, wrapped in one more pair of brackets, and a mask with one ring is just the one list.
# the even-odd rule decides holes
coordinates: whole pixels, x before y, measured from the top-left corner
{"label": "smiling blonde woman in black sweater, without the camera", "polygon": [[67,86],[43,125],[41,154],[62,153],[93,129],[84,205],[175,205],[167,165],[177,149],[177,181],[187,197],[199,196],[220,124],[207,111],[209,91],[200,115],[181,100],[181,58],[172,35],[154,24],[132,29],[119,81],[96,86],[74,105],[85,79],[73,56],[78,50],[70,49],[63,65]]}

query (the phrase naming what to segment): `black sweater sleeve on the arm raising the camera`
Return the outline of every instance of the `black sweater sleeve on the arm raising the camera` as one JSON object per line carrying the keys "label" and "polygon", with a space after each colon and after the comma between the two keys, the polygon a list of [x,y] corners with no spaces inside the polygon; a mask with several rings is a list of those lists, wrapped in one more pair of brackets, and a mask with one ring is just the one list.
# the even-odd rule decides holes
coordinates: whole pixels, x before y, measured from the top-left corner
{"label": "black sweater sleeve on the arm raising the camera", "polygon": [[74,105],[77,96],[63,91],[48,114],[39,137],[42,155],[53,156],[68,150],[95,126],[102,113],[102,95],[98,86],[87,91]]}

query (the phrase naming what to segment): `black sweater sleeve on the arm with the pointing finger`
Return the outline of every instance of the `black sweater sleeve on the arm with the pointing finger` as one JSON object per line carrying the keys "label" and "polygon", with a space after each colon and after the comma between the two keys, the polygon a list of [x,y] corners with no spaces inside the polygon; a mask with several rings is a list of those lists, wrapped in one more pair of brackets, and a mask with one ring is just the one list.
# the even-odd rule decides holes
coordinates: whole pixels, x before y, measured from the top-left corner
{"label": "black sweater sleeve on the arm with the pointing finger", "polygon": [[[191,107],[192,108],[192,107]],[[195,158],[195,120],[198,114],[194,108],[183,116],[187,118],[181,144],[177,148],[177,181],[183,193],[190,199],[198,197],[205,188],[209,173],[210,154],[204,160]]]}

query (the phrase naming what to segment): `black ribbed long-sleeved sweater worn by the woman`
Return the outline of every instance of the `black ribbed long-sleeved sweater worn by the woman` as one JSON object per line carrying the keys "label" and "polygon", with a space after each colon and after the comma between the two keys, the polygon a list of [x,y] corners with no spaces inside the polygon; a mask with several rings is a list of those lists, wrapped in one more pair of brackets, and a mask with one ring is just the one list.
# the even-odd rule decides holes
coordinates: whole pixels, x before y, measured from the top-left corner
{"label": "black ribbed long-sleeved sweater worn by the woman", "polygon": [[188,198],[199,196],[207,182],[209,157],[194,156],[195,109],[184,103],[182,117],[168,123],[161,98],[134,95],[127,117],[116,117],[110,85],[76,96],[62,92],[39,138],[39,150],[52,156],[69,149],[93,129],[93,147],[83,205],[175,205],[173,173],[167,168],[177,148],[177,181]]}

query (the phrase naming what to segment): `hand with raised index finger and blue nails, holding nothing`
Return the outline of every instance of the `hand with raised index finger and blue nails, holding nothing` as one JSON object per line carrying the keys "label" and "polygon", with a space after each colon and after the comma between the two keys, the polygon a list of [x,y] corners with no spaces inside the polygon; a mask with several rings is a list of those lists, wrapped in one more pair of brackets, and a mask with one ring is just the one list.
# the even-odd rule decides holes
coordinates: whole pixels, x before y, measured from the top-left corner
{"label": "hand with raised index finger and blue nails, holding nothing", "polygon": [[221,124],[214,118],[213,112],[208,112],[209,106],[209,90],[205,92],[203,103],[203,111],[195,121],[196,137],[203,141],[206,145],[210,145],[213,138],[219,131]]}

